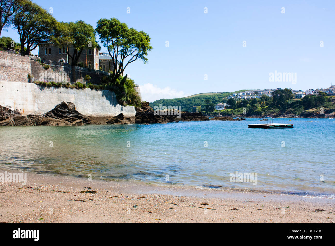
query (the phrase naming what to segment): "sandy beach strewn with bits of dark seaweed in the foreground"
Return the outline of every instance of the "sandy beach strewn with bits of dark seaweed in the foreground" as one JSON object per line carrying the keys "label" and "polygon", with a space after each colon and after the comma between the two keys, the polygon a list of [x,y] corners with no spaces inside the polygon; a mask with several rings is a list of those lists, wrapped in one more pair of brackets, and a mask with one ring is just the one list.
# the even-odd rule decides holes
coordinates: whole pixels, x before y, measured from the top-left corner
{"label": "sandy beach strewn with bits of dark seaweed in the foreground", "polygon": [[[1,223],[333,223],[335,200],[27,173],[0,183]],[[324,210],[324,211],[323,211]]]}

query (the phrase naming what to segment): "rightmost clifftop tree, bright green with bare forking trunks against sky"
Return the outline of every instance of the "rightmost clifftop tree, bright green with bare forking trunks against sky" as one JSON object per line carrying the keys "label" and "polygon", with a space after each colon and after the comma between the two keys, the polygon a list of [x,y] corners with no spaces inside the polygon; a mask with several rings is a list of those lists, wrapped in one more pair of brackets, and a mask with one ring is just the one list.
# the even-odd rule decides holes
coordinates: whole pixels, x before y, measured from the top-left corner
{"label": "rightmost clifftop tree, bright green with bare forking trunks against sky", "polygon": [[[150,46],[150,37],[144,31],[128,28],[125,23],[116,18],[98,20],[95,30],[99,34],[100,42],[103,43],[112,57],[114,68],[111,82],[113,84],[130,63],[136,60],[144,63],[148,61],[145,56],[152,47]],[[117,64],[118,61],[120,65]]]}

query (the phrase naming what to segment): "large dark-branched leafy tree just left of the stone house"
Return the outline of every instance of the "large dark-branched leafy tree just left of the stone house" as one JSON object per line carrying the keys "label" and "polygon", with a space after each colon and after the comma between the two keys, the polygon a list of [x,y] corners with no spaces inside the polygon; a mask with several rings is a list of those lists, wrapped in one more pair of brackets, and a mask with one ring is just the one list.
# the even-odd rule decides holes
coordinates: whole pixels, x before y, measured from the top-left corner
{"label": "large dark-branched leafy tree just left of the stone house", "polygon": [[20,35],[21,53],[29,55],[39,45],[51,42],[57,20],[41,6],[25,0],[14,15],[13,25]]}

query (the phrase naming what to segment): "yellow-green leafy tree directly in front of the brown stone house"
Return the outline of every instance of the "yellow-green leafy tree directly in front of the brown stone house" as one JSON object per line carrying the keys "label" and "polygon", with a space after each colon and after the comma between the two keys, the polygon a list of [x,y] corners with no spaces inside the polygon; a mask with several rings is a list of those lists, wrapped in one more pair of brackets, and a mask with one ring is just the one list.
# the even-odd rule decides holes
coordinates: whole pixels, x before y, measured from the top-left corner
{"label": "yellow-green leafy tree directly in front of the brown stone house", "polygon": [[[71,58],[71,65],[76,66],[84,50],[100,49],[95,40],[95,34],[94,28],[82,20],[60,22],[58,23],[53,43],[58,46],[66,46],[66,54]],[[70,51],[71,47],[73,47],[73,52]]]}

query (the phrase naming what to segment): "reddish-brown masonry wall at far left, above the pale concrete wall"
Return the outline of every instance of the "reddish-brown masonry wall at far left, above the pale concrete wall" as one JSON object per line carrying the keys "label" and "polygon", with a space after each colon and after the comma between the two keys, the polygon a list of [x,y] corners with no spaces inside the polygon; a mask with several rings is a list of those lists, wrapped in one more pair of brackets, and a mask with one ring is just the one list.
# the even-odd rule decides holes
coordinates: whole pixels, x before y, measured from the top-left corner
{"label": "reddish-brown masonry wall at far left, above the pale concrete wall", "polygon": [[0,81],[27,82],[31,74],[29,56],[0,51]]}

